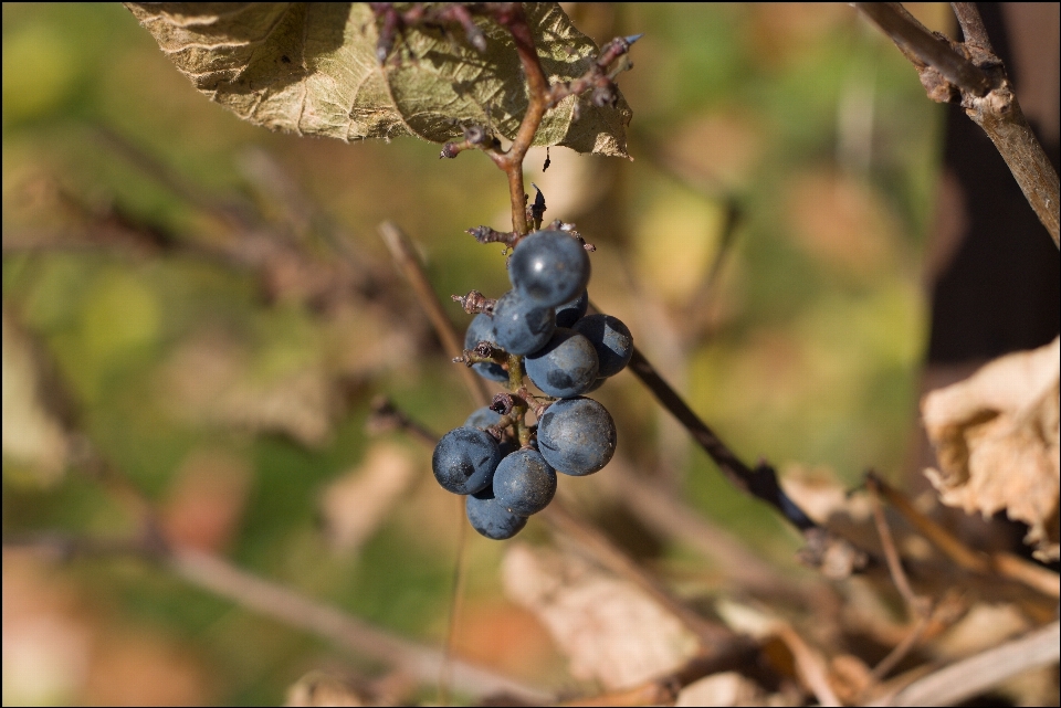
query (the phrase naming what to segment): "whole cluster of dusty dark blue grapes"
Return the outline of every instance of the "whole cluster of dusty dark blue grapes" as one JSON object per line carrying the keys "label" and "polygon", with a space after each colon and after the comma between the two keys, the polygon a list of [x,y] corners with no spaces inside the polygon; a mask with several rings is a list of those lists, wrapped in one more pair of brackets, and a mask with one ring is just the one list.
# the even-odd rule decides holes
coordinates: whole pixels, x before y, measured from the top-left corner
{"label": "whole cluster of dusty dark blue grapes", "polygon": [[[614,317],[586,315],[589,274],[580,240],[532,233],[508,261],[512,289],[468,328],[459,360],[511,393],[443,435],[431,464],[444,489],[466,495],[469,521],[486,538],[512,538],[548,506],[557,472],[590,475],[614,454],[611,415],[584,394],[627,366],[633,338]],[[524,374],[544,397],[527,391]]]}

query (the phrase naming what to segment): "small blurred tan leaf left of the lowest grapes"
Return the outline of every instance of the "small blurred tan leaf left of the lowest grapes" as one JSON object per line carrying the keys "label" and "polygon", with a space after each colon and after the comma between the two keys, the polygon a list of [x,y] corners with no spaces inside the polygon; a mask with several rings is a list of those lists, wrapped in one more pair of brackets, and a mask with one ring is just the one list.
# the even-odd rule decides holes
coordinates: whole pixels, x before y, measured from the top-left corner
{"label": "small blurred tan leaf left of the lowest grapes", "polygon": [[321,501],[332,545],[357,549],[384,521],[413,479],[416,466],[405,448],[378,443],[355,471],[336,479]]}

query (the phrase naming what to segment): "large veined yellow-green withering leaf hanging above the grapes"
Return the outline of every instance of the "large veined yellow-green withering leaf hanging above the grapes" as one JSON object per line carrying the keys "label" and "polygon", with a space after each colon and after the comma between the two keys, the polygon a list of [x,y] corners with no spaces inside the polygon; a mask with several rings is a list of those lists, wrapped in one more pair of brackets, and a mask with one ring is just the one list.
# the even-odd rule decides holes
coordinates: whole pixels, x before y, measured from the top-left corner
{"label": "large veined yellow-green withering leaf hanging above the grapes", "polygon": [[[199,91],[273,130],[344,141],[413,135],[444,142],[475,124],[512,139],[527,107],[512,38],[483,18],[475,22],[484,54],[463,32],[417,27],[402,32],[380,65],[376,19],[363,2],[126,7]],[[592,40],[557,3],[525,8],[548,78],[585,73],[598,52]],[[614,108],[570,96],[545,116],[535,145],[626,157],[631,115],[621,95]]]}

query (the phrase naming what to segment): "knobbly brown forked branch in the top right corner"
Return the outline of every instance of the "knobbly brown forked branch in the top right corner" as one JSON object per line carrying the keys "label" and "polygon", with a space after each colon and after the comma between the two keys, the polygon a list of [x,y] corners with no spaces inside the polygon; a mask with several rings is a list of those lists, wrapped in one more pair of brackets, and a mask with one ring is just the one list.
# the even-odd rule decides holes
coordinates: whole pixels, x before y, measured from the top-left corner
{"label": "knobbly brown forked branch in the top right corner", "polygon": [[[897,2],[857,2],[921,76],[928,97],[959,103],[991,139],[1055,246],[1061,247],[1061,182],[1025,119],[976,4],[954,3],[964,44],[933,35]],[[959,53],[960,52],[960,53]]]}

